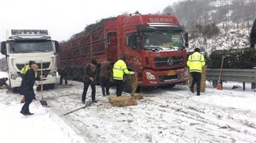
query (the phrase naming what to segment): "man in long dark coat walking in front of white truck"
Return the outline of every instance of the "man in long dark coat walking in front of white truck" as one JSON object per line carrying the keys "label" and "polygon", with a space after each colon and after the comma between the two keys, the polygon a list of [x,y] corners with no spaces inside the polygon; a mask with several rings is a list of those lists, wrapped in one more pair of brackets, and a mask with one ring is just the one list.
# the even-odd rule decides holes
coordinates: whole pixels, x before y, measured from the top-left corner
{"label": "man in long dark coat walking in front of white truck", "polygon": [[31,69],[25,73],[20,85],[20,94],[25,95],[26,98],[26,102],[20,110],[20,113],[24,116],[33,115],[33,113],[29,112],[29,105],[32,100],[35,99],[35,93],[33,89],[35,80],[40,79],[40,77],[35,77],[35,72],[37,71],[38,66],[36,64],[31,64]]}

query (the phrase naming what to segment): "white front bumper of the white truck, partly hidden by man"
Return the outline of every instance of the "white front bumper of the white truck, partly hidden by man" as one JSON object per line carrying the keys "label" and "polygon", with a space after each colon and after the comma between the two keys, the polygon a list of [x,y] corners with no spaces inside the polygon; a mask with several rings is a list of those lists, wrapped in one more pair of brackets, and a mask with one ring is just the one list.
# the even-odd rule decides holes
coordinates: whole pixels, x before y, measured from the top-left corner
{"label": "white front bumper of the white truck, partly hidden by man", "polygon": [[[11,79],[10,80],[10,86],[13,88],[13,87],[20,87],[20,84],[21,84],[21,77],[17,77],[17,79]],[[35,81],[36,84],[41,84],[40,81]],[[52,75],[47,75],[47,78],[46,79],[43,79],[43,84],[56,84],[57,82],[57,77],[54,76],[52,77]]]}

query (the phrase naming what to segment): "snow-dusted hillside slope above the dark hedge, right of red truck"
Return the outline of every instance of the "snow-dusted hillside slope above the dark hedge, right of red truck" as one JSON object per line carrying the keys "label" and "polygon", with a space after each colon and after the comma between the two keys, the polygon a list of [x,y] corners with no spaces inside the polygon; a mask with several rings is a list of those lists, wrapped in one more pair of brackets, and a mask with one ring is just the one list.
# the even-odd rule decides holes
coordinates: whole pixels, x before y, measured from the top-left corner
{"label": "snow-dusted hillside slope above the dark hedge, right of red truck", "polygon": [[248,29],[220,29],[220,33],[211,38],[200,36],[189,41],[188,51],[193,51],[196,47],[204,49],[211,54],[214,50],[243,49],[249,47]]}

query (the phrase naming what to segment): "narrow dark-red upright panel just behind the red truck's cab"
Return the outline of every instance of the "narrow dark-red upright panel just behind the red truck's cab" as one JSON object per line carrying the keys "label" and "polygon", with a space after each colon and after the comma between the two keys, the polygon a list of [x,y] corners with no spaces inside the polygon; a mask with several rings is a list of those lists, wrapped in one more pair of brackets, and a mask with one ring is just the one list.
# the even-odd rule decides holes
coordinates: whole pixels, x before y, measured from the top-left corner
{"label": "narrow dark-red upright panel just behind the red truck's cab", "polygon": [[108,36],[107,57],[109,57],[111,61],[116,61],[118,58],[116,31],[109,31],[107,36]]}

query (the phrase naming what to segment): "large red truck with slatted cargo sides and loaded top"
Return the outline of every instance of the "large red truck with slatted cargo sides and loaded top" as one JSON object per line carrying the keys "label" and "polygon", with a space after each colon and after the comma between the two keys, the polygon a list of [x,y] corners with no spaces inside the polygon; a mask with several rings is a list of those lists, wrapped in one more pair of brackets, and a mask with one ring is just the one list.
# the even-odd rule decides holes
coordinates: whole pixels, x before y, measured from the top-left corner
{"label": "large red truck with slatted cargo sides and loaded top", "polygon": [[127,68],[138,72],[139,87],[173,87],[188,80],[186,47],[188,33],[173,15],[119,15],[60,42],[57,62],[59,68],[66,67],[69,79],[81,80],[91,59],[100,64],[109,57],[114,63],[124,55]]}

